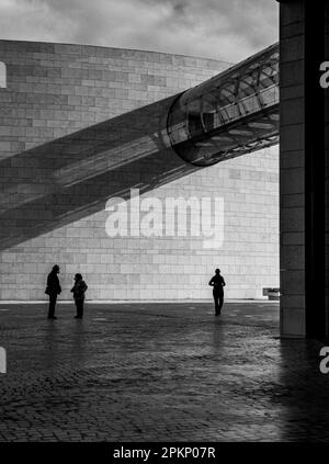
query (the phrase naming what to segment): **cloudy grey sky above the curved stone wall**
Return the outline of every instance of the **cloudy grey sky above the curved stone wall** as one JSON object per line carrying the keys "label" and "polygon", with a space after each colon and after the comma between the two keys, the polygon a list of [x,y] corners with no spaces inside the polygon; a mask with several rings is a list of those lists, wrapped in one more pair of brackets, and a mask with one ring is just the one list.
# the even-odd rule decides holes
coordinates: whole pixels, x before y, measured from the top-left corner
{"label": "cloudy grey sky above the curved stone wall", "polygon": [[274,0],[0,0],[0,38],[236,63],[277,41]]}

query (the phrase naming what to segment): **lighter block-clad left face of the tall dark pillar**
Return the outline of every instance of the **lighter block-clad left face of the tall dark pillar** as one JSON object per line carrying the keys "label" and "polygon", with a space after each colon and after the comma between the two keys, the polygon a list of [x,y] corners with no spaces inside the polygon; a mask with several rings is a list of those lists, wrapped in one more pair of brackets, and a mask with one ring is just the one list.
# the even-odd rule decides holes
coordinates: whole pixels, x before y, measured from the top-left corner
{"label": "lighter block-clad left face of the tall dark pillar", "polygon": [[294,10],[281,8],[282,336],[305,336],[305,69],[300,5]]}

